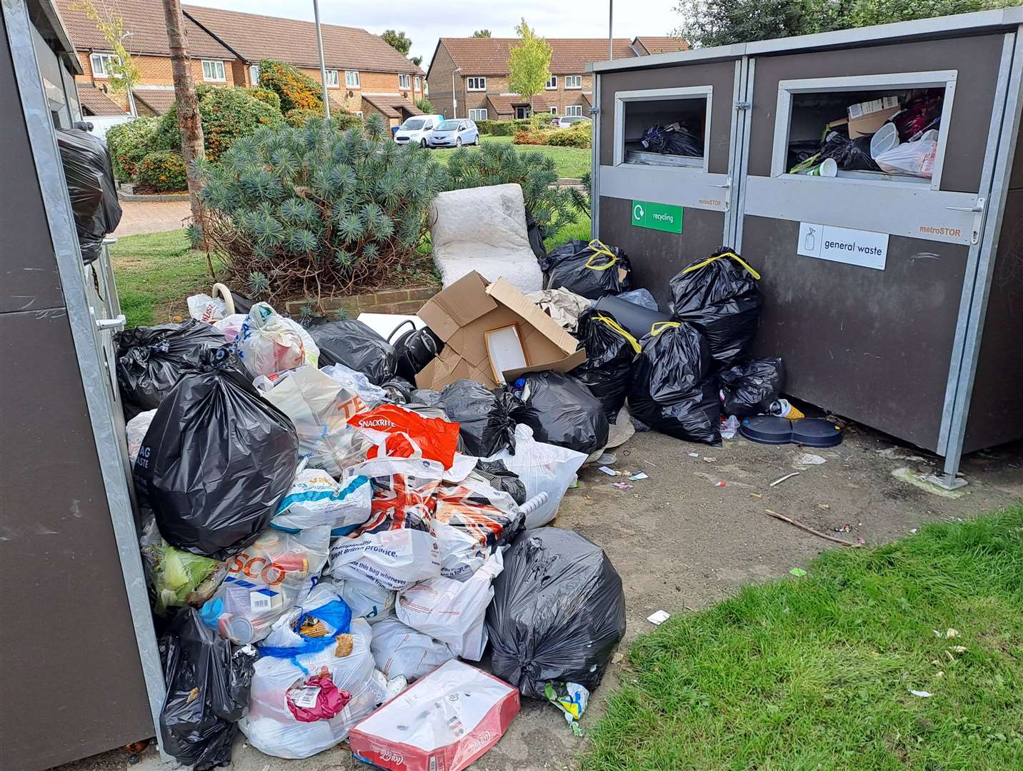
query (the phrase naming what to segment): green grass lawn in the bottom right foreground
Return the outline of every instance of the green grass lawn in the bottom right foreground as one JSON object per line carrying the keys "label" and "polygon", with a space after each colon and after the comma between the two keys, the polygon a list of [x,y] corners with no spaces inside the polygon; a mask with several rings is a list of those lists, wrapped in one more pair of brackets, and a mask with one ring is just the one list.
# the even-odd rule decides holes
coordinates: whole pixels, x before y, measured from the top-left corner
{"label": "green grass lawn in the bottom right foreground", "polygon": [[804,566],[638,638],[583,768],[1023,768],[1023,507]]}

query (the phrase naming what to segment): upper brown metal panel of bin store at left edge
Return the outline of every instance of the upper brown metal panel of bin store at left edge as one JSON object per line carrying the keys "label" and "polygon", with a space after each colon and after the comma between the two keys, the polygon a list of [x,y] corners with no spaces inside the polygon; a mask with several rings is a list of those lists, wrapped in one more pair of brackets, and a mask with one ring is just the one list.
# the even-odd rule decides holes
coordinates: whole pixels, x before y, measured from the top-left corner
{"label": "upper brown metal panel of bin store at left edge", "polygon": [[[6,41],[6,34],[3,40]],[[14,85],[10,50],[0,46],[0,180],[3,217],[12,227],[0,245],[0,313],[62,305],[53,250],[38,250],[37,234],[47,229],[38,186],[14,192],[19,180],[36,179],[21,102]],[[9,218],[9,219],[8,219]]]}

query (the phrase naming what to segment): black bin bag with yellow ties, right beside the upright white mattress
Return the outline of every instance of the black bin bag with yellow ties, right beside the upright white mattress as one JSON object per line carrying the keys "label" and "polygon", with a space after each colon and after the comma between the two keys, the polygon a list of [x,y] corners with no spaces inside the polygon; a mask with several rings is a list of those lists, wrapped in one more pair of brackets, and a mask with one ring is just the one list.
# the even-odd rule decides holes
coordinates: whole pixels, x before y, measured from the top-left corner
{"label": "black bin bag with yellow ties, right beside the upright white mattress", "polygon": [[565,288],[588,300],[632,288],[625,251],[595,239],[569,241],[547,255],[540,267],[547,275],[548,289]]}

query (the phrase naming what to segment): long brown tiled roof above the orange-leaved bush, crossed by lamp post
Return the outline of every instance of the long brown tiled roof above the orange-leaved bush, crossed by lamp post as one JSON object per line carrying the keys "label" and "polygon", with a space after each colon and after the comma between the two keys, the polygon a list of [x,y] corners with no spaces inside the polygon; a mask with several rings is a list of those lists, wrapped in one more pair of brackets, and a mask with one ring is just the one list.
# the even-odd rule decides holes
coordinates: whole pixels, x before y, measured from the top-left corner
{"label": "long brown tiled roof above the orange-leaved bush, crossed by lamp post", "polygon": [[[248,61],[277,59],[296,66],[319,69],[316,25],[312,21],[196,5],[183,5],[182,9]],[[330,70],[422,75],[415,64],[365,30],[338,25],[320,25],[320,29],[323,57]]]}

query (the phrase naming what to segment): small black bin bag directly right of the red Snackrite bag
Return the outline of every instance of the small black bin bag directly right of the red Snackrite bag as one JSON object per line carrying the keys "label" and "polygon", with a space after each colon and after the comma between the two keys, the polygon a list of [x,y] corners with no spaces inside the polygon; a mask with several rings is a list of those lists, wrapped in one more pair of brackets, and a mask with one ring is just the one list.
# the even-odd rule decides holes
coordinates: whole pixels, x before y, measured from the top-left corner
{"label": "small black bin bag directly right of the red Snackrite bag", "polygon": [[490,392],[475,380],[455,380],[441,392],[448,420],[458,423],[466,455],[488,458],[507,449],[515,455],[515,418],[523,404],[507,389]]}

